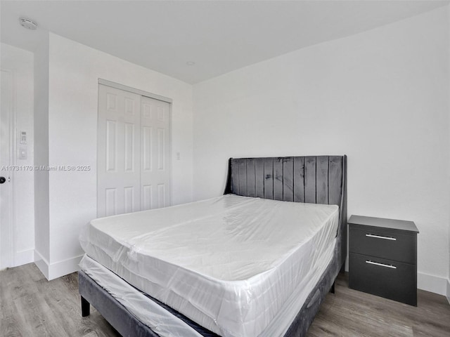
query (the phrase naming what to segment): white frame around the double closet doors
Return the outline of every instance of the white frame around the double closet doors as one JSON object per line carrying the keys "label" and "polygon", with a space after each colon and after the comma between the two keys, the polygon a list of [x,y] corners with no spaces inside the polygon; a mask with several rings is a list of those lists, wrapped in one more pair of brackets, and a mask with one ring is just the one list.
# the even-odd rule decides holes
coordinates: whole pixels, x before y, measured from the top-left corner
{"label": "white frame around the double closet doors", "polygon": [[[165,206],[171,206],[172,205],[172,190],[173,190],[173,188],[172,188],[172,173],[173,173],[173,170],[172,170],[172,140],[173,140],[173,137],[172,137],[172,103],[173,103],[173,100],[172,100],[172,98],[167,98],[165,96],[157,95],[155,93],[149,93],[147,91],[143,91],[138,88],[132,88],[131,86],[124,86],[123,84],[119,84],[119,83],[116,83],[113,81],[108,81],[105,79],[98,79],[98,90],[100,88],[100,85],[110,86],[111,88],[120,89],[122,91],[127,91],[129,93],[135,93],[137,95],[141,95],[144,97],[153,98],[155,100],[160,100],[162,102],[169,103],[169,149],[168,150],[169,150],[170,155],[167,157],[167,165],[169,166],[169,188],[168,188],[169,204],[165,205]],[[141,107],[139,107],[139,108],[141,109]],[[139,111],[139,113],[142,114],[141,111]],[[98,130],[98,126],[97,126],[97,130]],[[141,138],[141,137],[139,137],[139,138]],[[98,145],[97,145],[97,149],[98,149]],[[98,150],[97,150],[97,152],[98,152]],[[97,156],[98,156],[98,154],[97,154]],[[139,156],[141,156],[141,151],[139,152]],[[97,159],[97,166],[98,166],[98,164],[99,163],[98,163],[98,159]],[[140,166],[141,166],[141,164],[140,164]],[[97,170],[98,170],[98,168],[97,168]],[[98,177],[98,172],[97,172],[97,177]],[[103,214],[101,212],[99,212],[99,209],[98,209],[98,206],[99,206],[98,205],[98,178],[97,178],[96,190],[97,190],[97,198],[96,198],[96,200],[97,200],[97,216],[102,216]],[[142,193],[141,186],[140,186],[139,190],[140,190],[139,193],[141,194]],[[142,199],[141,195],[140,195],[139,199],[140,199],[139,206],[141,207],[142,206],[141,202],[140,202]]]}

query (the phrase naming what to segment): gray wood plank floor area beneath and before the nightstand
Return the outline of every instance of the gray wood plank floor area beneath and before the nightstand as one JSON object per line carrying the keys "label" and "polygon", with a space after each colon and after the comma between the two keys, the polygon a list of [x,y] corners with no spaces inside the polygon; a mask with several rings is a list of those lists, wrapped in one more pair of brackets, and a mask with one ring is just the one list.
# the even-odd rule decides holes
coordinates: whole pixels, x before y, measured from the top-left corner
{"label": "gray wood plank floor area beneath and before the nightstand", "polygon": [[307,337],[450,337],[450,305],[444,296],[418,290],[412,307],[348,288],[340,275]]}

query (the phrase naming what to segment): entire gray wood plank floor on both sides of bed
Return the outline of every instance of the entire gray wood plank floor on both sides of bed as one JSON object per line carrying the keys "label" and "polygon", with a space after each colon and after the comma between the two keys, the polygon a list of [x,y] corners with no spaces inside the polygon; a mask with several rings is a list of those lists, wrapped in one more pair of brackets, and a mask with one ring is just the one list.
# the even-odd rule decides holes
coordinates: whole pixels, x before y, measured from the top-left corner
{"label": "entire gray wood plank floor on both sides of bed", "polygon": [[[116,337],[91,308],[82,318],[77,273],[46,281],[34,264],[0,272],[1,337]],[[307,337],[449,337],[450,305],[444,296],[418,291],[411,307],[348,288],[340,275]]]}

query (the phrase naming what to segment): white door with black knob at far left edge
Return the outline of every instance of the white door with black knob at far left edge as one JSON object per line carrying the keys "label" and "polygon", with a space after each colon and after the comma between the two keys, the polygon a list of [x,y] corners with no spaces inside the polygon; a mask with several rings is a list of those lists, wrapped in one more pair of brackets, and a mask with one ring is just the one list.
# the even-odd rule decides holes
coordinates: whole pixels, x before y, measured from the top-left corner
{"label": "white door with black knob at far left edge", "polygon": [[0,112],[0,270],[13,265],[11,228],[11,118],[13,113],[13,74],[1,70]]}

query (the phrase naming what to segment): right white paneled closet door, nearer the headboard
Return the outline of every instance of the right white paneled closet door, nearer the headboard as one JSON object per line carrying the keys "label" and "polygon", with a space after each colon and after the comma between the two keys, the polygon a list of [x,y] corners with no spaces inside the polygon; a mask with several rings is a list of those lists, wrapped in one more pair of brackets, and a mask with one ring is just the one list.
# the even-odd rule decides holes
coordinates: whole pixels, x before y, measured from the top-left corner
{"label": "right white paneled closet door, nearer the headboard", "polygon": [[170,205],[170,104],[141,98],[141,210]]}

